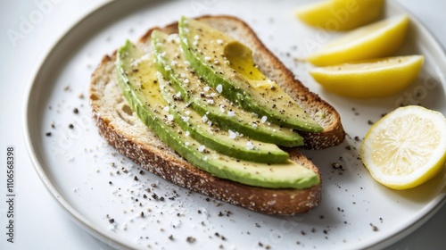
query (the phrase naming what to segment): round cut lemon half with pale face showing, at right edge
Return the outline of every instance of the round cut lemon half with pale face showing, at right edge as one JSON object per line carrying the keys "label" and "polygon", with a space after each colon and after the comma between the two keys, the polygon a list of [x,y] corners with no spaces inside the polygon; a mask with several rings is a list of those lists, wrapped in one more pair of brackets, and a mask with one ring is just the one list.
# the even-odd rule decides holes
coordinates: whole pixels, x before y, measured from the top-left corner
{"label": "round cut lemon half with pale face showing, at right edge", "polygon": [[362,162],[372,177],[394,189],[417,187],[442,171],[446,160],[446,119],[441,112],[406,106],[369,130]]}

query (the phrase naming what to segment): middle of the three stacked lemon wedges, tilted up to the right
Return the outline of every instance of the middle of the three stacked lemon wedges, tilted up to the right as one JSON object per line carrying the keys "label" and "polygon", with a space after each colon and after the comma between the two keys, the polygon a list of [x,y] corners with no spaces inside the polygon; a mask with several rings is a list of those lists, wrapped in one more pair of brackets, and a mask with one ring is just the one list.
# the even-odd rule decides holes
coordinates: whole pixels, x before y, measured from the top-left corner
{"label": "middle of the three stacked lemon wedges, tilted up to the right", "polygon": [[389,56],[402,44],[409,25],[407,15],[353,29],[322,46],[307,60],[318,66]]}

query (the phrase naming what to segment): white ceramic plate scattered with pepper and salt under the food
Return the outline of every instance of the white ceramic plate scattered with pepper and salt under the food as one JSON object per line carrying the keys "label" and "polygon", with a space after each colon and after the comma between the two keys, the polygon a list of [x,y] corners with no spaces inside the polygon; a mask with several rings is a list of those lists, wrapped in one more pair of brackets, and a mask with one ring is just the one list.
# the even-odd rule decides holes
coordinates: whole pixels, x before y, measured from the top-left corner
{"label": "white ceramic plate scattered with pepper and salt under the food", "polygon": [[[400,104],[446,113],[442,48],[412,18],[398,54],[425,55],[416,83],[384,99],[331,95],[310,78],[310,64],[295,60],[337,36],[294,18],[292,10],[307,2],[115,1],[87,15],[54,46],[29,88],[25,137],[45,186],[75,221],[117,248],[377,248],[408,235],[444,204],[445,171],[421,187],[393,191],[370,178],[358,149],[369,122]],[[387,2],[386,16],[405,12]],[[323,176],[322,203],[310,214],[267,216],[188,192],[141,171],[97,133],[87,99],[90,74],[102,56],[181,14],[213,13],[248,22],[299,79],[341,113],[349,134],[343,144],[304,152]]]}

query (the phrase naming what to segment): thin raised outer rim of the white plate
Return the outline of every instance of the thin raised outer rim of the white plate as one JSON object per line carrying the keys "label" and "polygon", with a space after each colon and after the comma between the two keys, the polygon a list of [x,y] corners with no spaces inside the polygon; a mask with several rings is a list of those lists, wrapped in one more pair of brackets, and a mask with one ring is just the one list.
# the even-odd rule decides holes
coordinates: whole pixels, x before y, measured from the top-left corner
{"label": "thin raised outer rim of the white plate", "polygon": [[[31,74],[31,78],[28,82],[27,89],[25,90],[24,104],[22,108],[22,122],[23,122],[22,132],[25,141],[25,146],[29,154],[29,159],[34,167],[34,170],[37,172],[39,179],[45,185],[46,190],[53,196],[57,204],[61,205],[63,210],[70,215],[69,216],[70,219],[76,222],[78,226],[86,230],[90,235],[103,241],[103,243],[107,244],[108,246],[118,249],[131,249],[131,248],[140,248],[141,246],[136,245],[130,241],[123,240],[120,237],[113,237],[114,235],[110,231],[99,228],[98,226],[95,225],[95,223],[87,220],[87,218],[84,215],[78,212],[62,196],[57,187],[55,187],[53,182],[48,178],[47,173],[42,166],[41,160],[37,156],[36,148],[34,146],[35,143],[31,138],[31,131],[30,131],[31,129],[29,126],[30,125],[29,105],[31,103],[33,89],[37,85],[36,82],[39,75],[41,74],[41,70],[45,67],[45,64],[49,62],[48,58],[50,57],[50,55],[54,54],[54,51],[58,46],[60,46],[62,41],[65,40],[67,37],[69,37],[70,32],[72,32],[73,29],[77,29],[79,26],[81,26],[82,22],[85,21],[88,17],[93,16],[98,12],[102,12],[104,8],[111,7],[112,5],[119,4],[120,2],[122,1],[106,0],[101,4],[98,4],[92,10],[79,16],[76,21],[71,23],[68,26],[68,28],[62,32],[62,35],[54,39],[54,44],[50,46],[47,49],[47,51],[45,51],[44,53],[45,55],[37,63],[35,71],[33,71],[33,73]],[[404,12],[407,12],[408,15],[410,16],[410,21],[415,22],[418,31],[421,31],[423,36],[425,36],[427,40],[430,41],[429,46],[434,46],[433,48],[434,51],[440,52],[439,54],[436,54],[436,56],[441,56],[442,62],[446,63],[445,50],[442,47],[442,44],[434,36],[434,33],[432,33],[429,29],[427,29],[424,23],[417,19],[417,16],[415,16],[412,12],[410,12],[406,7],[404,7],[397,1],[394,0],[387,1],[387,4],[392,5],[393,8],[397,8],[403,10]],[[395,240],[401,240],[403,237],[407,237],[409,234],[411,234],[416,229],[421,227],[425,223],[425,221],[428,221],[431,217],[433,217],[434,214],[438,212],[444,204],[446,204],[446,194],[440,193],[437,196],[435,196],[433,200],[431,200],[428,204],[424,206],[423,210],[427,210],[428,212],[418,213],[415,218],[416,220],[412,221],[411,223],[408,223],[408,225],[405,225],[403,229],[395,231],[393,234],[390,234],[379,241],[365,242],[364,244],[362,244],[362,246],[371,249],[390,246],[392,243],[396,242]]]}

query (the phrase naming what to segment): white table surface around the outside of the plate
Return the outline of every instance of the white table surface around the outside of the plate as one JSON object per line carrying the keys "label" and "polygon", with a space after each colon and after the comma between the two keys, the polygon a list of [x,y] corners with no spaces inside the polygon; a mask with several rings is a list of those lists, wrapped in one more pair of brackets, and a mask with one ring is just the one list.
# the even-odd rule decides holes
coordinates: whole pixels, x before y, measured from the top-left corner
{"label": "white table surface around the outside of the plate", "polygon": [[[189,0],[187,0],[189,1]],[[191,0],[192,1],[192,0]],[[0,202],[0,249],[110,249],[87,234],[70,219],[46,191],[29,161],[22,136],[25,89],[51,46],[70,26],[104,0],[35,0],[0,2],[0,155],[14,146],[15,235],[6,241],[6,203]],[[446,1],[398,0],[407,7],[446,47]],[[41,10],[41,20],[15,40],[8,35],[18,30],[23,19]],[[9,30],[9,31],[8,31]],[[446,69],[445,69],[446,71]],[[0,156],[0,196],[5,197],[5,156]],[[446,206],[423,226],[387,249],[445,249]]]}

